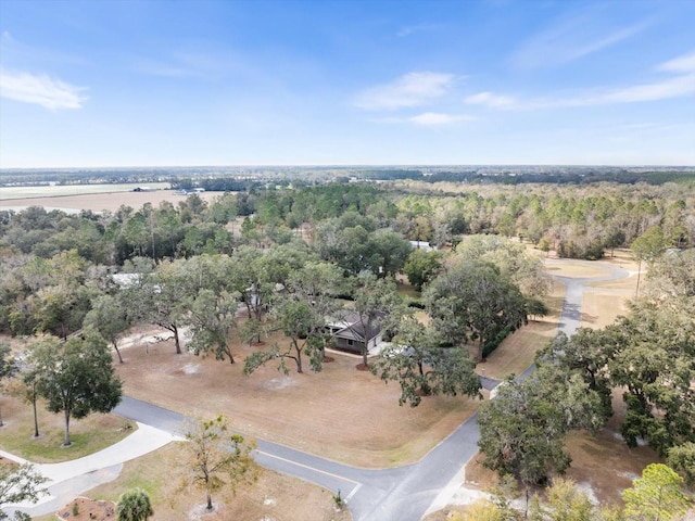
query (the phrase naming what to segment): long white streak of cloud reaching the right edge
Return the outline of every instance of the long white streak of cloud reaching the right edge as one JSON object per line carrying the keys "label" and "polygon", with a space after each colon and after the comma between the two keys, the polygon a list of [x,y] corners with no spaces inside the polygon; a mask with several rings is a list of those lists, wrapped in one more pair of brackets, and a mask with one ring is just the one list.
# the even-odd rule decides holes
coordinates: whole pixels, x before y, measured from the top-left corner
{"label": "long white streak of cloud reaching the right edge", "polygon": [[492,109],[534,110],[640,103],[695,94],[695,52],[664,62],[656,67],[656,71],[677,73],[677,75],[639,85],[594,89],[572,97],[556,96],[523,100],[485,91],[469,96],[464,101],[468,104],[479,104]]}

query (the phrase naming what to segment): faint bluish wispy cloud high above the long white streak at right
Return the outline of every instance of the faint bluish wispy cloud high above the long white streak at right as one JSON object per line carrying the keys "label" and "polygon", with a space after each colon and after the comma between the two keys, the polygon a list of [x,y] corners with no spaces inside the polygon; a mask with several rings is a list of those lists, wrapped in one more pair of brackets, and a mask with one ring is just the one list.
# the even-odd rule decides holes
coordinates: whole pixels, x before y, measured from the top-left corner
{"label": "faint bluish wispy cloud high above the long white streak at right", "polygon": [[574,14],[526,41],[511,56],[520,68],[541,68],[563,65],[642,31],[648,24],[605,28],[596,24],[595,13]]}

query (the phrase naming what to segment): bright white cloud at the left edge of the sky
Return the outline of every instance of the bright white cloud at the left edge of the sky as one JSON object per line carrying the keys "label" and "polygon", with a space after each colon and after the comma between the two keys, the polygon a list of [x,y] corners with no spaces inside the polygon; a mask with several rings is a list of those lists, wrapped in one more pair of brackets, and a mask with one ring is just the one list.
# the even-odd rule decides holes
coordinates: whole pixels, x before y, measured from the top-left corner
{"label": "bright white cloud at the left edge of the sky", "polygon": [[81,109],[87,98],[83,88],[53,79],[47,75],[0,69],[0,96],[10,100],[34,103],[49,110]]}

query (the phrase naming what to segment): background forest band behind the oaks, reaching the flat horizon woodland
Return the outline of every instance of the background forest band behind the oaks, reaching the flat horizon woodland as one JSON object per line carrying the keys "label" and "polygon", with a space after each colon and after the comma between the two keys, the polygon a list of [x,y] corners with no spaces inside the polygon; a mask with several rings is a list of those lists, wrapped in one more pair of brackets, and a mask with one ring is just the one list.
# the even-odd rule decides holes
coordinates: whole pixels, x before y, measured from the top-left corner
{"label": "background forest band behind the oaks, reaching the flat horizon woodland", "polygon": [[346,275],[384,276],[403,269],[405,240],[446,249],[466,236],[490,234],[555,250],[560,257],[596,259],[627,246],[649,260],[695,244],[693,187],[328,183],[223,193],[210,204],[191,195],[176,206],[122,206],[115,213],[0,211],[0,330],[26,333],[36,327],[27,298],[42,287],[48,266],[66,256],[80,270],[117,272],[143,257],[155,264],[299,240]]}

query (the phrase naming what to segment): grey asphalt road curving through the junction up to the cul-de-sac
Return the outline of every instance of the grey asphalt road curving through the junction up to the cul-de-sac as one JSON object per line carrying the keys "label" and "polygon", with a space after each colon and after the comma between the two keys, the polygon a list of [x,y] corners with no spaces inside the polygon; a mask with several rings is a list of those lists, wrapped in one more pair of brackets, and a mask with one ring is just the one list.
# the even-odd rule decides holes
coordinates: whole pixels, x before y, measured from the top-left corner
{"label": "grey asphalt road curving through the junction up to the cul-de-sac", "polygon": [[[596,266],[596,263],[586,264]],[[559,331],[570,335],[579,327],[582,297],[587,283],[629,276],[624,269],[604,264],[601,266],[608,269],[609,275],[596,278],[556,277],[566,285]],[[521,377],[533,369],[531,366]],[[483,381],[485,387],[495,383],[490,379]],[[124,396],[114,412],[169,434],[177,434],[186,419],[178,412],[128,396]],[[333,493],[340,491],[353,521],[416,521],[427,513],[442,490],[478,452],[480,433],[476,420],[477,415],[462,423],[418,462],[395,469],[359,469],[262,440],[257,441],[256,460],[263,467],[316,483]],[[31,512],[30,508],[23,510],[39,513]]]}

